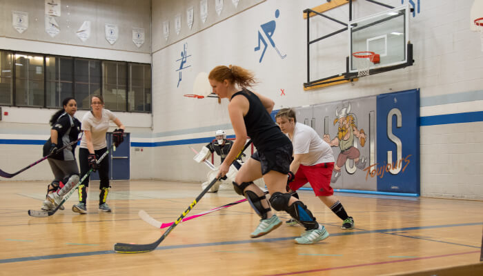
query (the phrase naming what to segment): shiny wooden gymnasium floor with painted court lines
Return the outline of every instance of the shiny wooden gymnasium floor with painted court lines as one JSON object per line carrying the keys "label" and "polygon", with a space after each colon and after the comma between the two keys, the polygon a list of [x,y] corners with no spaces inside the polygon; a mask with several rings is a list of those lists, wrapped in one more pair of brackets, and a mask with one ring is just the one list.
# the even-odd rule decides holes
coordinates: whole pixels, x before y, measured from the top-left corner
{"label": "shiny wooden gymnasium floor with painted court lines", "polygon": [[[301,226],[250,239],[259,218],[244,202],[179,224],[155,251],[124,255],[112,250],[116,242],[150,244],[167,229],[146,224],[139,210],[173,221],[201,185],[115,181],[108,197],[112,213],[98,213],[93,182],[87,215],[70,210],[76,193],[66,210],[28,216],[27,210],[39,210],[46,184],[0,181],[0,275],[394,275],[481,264],[482,201],[337,193],[355,218],[355,229],[342,230],[338,217],[302,191],[331,233],[318,244],[293,242]],[[189,215],[239,199],[233,191],[207,194]]]}

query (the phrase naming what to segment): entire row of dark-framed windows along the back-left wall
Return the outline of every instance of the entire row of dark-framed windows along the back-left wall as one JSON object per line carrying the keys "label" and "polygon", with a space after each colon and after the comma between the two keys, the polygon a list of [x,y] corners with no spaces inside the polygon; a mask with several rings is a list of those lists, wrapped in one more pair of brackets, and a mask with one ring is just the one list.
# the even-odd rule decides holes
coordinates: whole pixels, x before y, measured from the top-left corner
{"label": "entire row of dark-framed windows along the back-left wall", "polygon": [[151,66],[0,50],[0,105],[61,108],[74,97],[79,110],[101,95],[112,111],[151,112]]}

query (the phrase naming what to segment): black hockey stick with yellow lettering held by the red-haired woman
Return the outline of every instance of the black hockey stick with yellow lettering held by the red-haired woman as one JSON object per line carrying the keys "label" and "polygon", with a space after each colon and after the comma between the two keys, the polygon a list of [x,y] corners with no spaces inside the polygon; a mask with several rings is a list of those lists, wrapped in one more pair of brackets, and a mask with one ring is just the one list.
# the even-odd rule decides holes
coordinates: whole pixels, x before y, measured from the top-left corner
{"label": "black hockey stick with yellow lettering held by the red-haired woman", "polygon": [[[240,157],[240,155],[242,155],[242,153],[244,152],[244,150],[246,150],[246,148],[248,148],[248,146],[252,143],[252,140],[250,139],[250,141],[248,141],[248,143],[245,144],[244,148],[238,153],[237,157],[235,157],[235,159],[233,161],[236,161],[238,159],[238,157]],[[193,209],[193,207],[195,207],[195,205],[201,200],[201,198],[206,194],[208,193],[208,190],[210,190],[210,188],[215,185],[215,182],[219,180],[220,177],[217,177],[215,179],[213,179],[210,184],[208,184],[208,186],[206,186],[206,188],[204,188],[204,190],[201,192],[201,194],[198,195],[198,197],[196,197],[195,200],[193,200],[193,202],[190,204],[190,206],[188,206],[188,208],[186,208],[186,210],[181,213],[181,215],[179,215],[178,219],[176,219],[175,223],[174,224],[171,224],[171,226],[168,228],[168,230],[166,230],[163,235],[161,235],[161,237],[159,239],[157,239],[156,242],[153,242],[152,244],[122,244],[122,243],[117,243],[114,245],[114,250],[115,252],[117,253],[144,253],[144,252],[149,252],[149,251],[152,251],[152,250],[155,250],[157,248],[157,246],[159,246],[159,244],[161,244],[161,242],[163,242],[163,240],[169,235],[169,233],[171,233],[172,229],[174,229],[180,222],[181,220],[186,217],[186,215],[188,215],[188,213],[190,213],[190,210]]]}

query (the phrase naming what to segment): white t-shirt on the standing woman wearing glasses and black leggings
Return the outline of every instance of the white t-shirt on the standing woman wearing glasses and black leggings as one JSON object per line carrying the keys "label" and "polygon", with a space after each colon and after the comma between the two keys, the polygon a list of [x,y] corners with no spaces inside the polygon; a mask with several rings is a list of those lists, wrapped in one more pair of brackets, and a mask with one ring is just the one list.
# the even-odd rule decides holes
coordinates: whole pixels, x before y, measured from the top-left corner
{"label": "white t-shirt on the standing woman wearing glasses and black leggings", "polygon": [[[109,129],[109,121],[114,121],[116,115],[110,110],[105,108],[102,109],[101,119],[94,117],[92,112],[87,112],[82,118],[82,130],[89,130],[90,137],[92,138],[92,145],[94,150],[100,150],[101,148],[106,148],[108,146],[106,141],[106,132]],[[82,135],[81,148],[87,148],[86,135]]]}

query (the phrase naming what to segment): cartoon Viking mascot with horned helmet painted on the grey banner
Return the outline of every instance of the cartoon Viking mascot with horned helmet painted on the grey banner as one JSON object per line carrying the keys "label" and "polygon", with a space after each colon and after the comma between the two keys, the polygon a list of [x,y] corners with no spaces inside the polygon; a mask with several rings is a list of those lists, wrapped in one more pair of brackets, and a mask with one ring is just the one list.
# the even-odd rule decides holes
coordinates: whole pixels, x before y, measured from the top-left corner
{"label": "cartoon Viking mascot with horned helmet painted on the grey banner", "polygon": [[340,153],[335,162],[332,183],[335,183],[341,175],[341,168],[346,164],[348,159],[355,163],[355,167],[359,170],[364,170],[366,167],[366,157],[361,156],[359,150],[355,146],[356,139],[359,144],[364,147],[366,144],[366,133],[361,128],[357,128],[357,117],[351,113],[351,103],[347,106],[342,106],[339,110],[335,109],[334,125],[338,124],[337,135],[331,140],[330,135],[324,135],[324,141],[333,147],[339,147]]}

